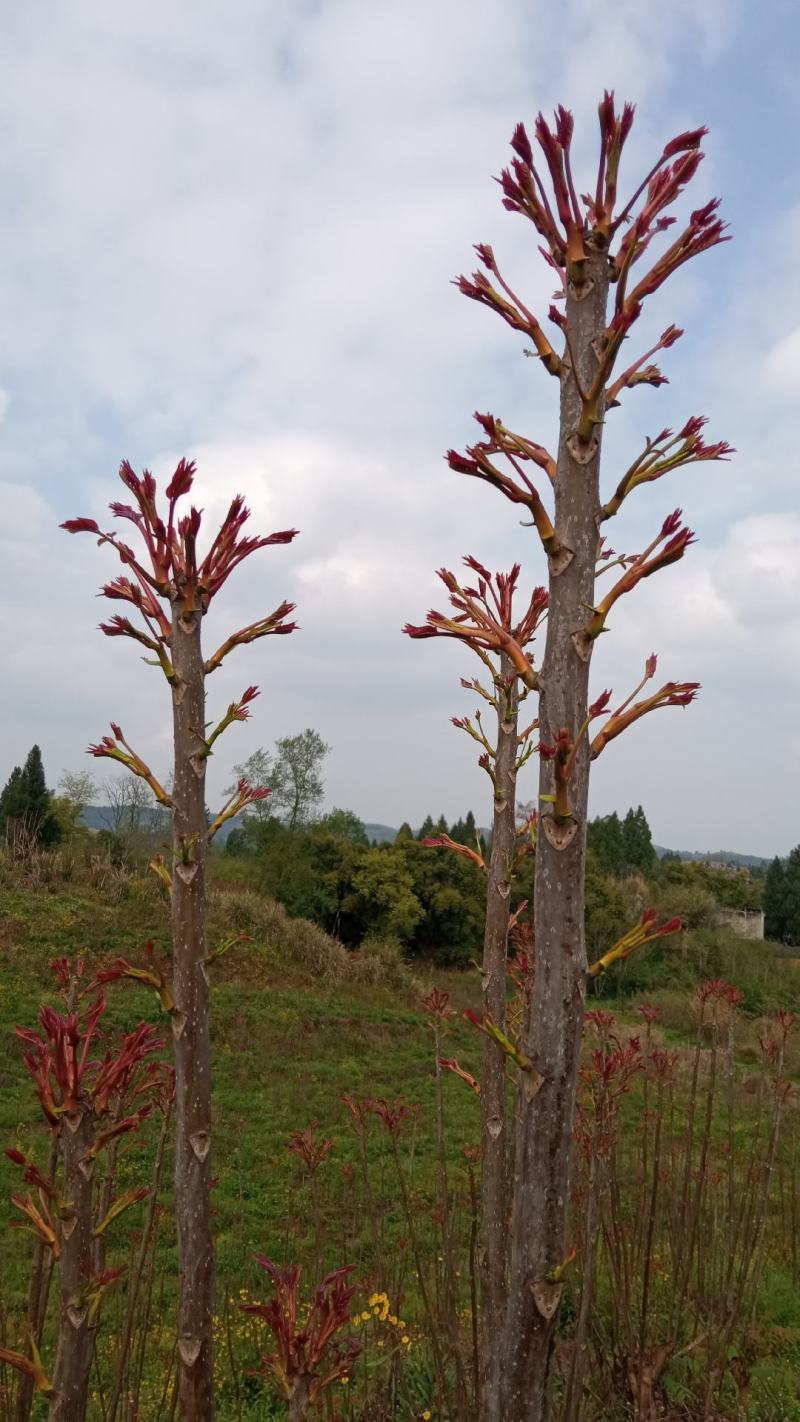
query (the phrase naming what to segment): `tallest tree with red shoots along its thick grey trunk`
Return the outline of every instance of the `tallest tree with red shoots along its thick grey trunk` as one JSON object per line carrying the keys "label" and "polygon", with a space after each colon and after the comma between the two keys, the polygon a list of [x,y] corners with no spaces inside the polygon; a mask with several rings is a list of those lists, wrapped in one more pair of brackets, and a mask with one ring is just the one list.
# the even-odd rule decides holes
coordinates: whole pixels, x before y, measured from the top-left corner
{"label": "tallest tree with red shoots along its thick grey trunk", "polygon": [[[705,419],[693,415],[674,432],[647,437],[637,458],[601,488],[605,422],[638,385],[665,383],[655,357],[682,336],[669,324],[649,348],[621,360],[647,301],[688,260],[726,240],[712,199],[691,212],[675,233],[671,209],[702,161],[706,129],[681,134],[655,158],[649,172],[620,198],[622,149],[634,108],[617,109],[612,94],[600,104],[600,156],[588,191],[573,172],[573,115],[563,107],[548,124],[540,114],[534,144],[519,124],[510,166],[500,175],[503,206],[529,220],[557,283],[548,338],[526,300],[500,272],[492,246],[476,246],[479,269],[458,279],[459,290],[494,311],[526,341],[558,390],[558,442],[554,452],[510,429],[494,414],[476,414],[477,439],[449,451],[456,474],[480,479],[524,515],[547,566],[544,651],[533,664],[524,636],[514,636],[497,603],[493,580],[470,563],[476,589],[442,574],[455,616],[431,614],[416,636],[458,636],[506,660],[503,681],[516,678],[537,695],[539,825],[534,879],[534,971],[524,1025],[513,1045],[516,1068],[510,1237],[483,1220],[485,1247],[494,1239],[502,1261],[486,1261],[493,1291],[502,1297],[483,1318],[482,1422],[540,1422],[548,1411],[558,1305],[568,1253],[567,1210],[573,1169],[573,1123],[585,983],[654,933],[645,916],[632,937],[621,940],[591,968],[584,943],[584,876],[588,779],[591,762],[634,721],[651,711],[688,705],[698,683],[665,681],[649,656],[639,684],[614,701],[611,691],[590,700],[590,670],[597,640],[608,631],[617,603],[654,573],[683,557],[693,533],[675,509],[661,519],[641,552],[614,552],[605,529],[637,489],[701,461],[723,459],[729,447],[706,444]],[[539,164],[539,166],[537,166]],[[557,350],[556,347],[560,347]],[[622,367],[622,368],[620,368]],[[540,493],[540,488],[544,492]],[[598,579],[601,582],[598,583]],[[460,600],[460,606],[459,606]],[[500,737],[503,732],[500,729]],[[496,751],[497,742],[485,754]],[[496,764],[496,762],[493,762]],[[635,940],[635,941],[634,941]],[[504,946],[503,950],[504,953]],[[486,971],[485,971],[486,980]],[[502,1010],[502,1004],[497,1004]],[[502,1045],[497,1024],[483,1021]],[[493,1062],[489,1057],[487,1062]],[[496,1069],[492,1066],[492,1069]],[[494,1088],[492,1091],[496,1094]],[[486,1146],[486,1135],[485,1135]],[[485,1162],[486,1166],[486,1162]],[[492,1209],[496,1209],[494,1204]],[[485,1206],[489,1202],[485,1196]],[[504,1221],[503,1221],[504,1223]]]}

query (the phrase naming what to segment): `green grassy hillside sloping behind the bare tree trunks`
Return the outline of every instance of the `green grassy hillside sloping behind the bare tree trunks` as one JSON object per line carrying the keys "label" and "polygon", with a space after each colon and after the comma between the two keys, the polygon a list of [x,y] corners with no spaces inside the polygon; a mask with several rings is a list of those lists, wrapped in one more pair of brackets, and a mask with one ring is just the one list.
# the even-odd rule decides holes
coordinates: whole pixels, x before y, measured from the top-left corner
{"label": "green grassy hillside sloping behind the bare tree trunks", "polygon": [[[88,981],[97,967],[118,954],[141,966],[142,944],[152,936],[156,961],[166,967],[169,933],[166,904],[152,880],[114,870],[109,865],[102,867],[99,859],[94,859],[88,870],[75,870],[58,855],[50,859],[43,856],[33,867],[36,872],[27,879],[16,870],[3,877],[0,859],[0,1145],[16,1146],[41,1162],[47,1155],[45,1132],[14,1027],[34,1027],[43,1000],[58,1007],[50,971],[55,957],[84,957],[84,981]],[[669,1088],[674,1099],[671,1112],[676,1113],[676,1136],[669,1145],[674,1153],[681,1149],[681,1112],[685,1109],[696,1037],[692,987],[708,975],[728,975],[740,983],[745,1007],[736,1030],[735,1075],[729,1078],[720,1072],[718,1076],[719,1091],[723,1089],[723,1079],[736,1091],[736,1156],[725,1153],[728,1118],[725,1098],[720,1098],[715,1105],[719,1159],[715,1155],[713,1169],[739,1170],[745,1182],[742,1199],[747,1199],[747,1172],[756,1172],[752,1173],[755,1180],[760,1170],[763,1123],[759,1122],[763,1102],[769,1099],[762,1086],[753,1094],[752,1085],[762,1079],[762,1014],[797,1000],[800,978],[789,964],[774,960],[769,946],[762,946],[755,954],[750,944],[728,941],[722,936],[709,939],[705,931],[696,940],[688,936],[681,948],[668,941],[654,944],[647,958],[644,954],[638,960],[634,957],[618,974],[608,974],[608,980],[598,984],[602,997],[594,1000],[591,1007],[602,1005],[604,1014],[597,1018],[601,1024],[612,1024],[614,1018],[605,1014],[617,1014],[614,1031],[620,1032],[621,1041],[629,1044],[632,1038],[644,1042],[638,1014],[641,995],[615,1001],[612,993],[625,985],[629,971],[635,970],[642,978],[649,974],[645,991],[658,1014],[658,1024],[647,1027],[647,1042],[651,1042],[652,1034],[652,1042],[669,1048],[669,1059],[675,1064],[675,1084]],[[347,951],[314,924],[288,919],[281,907],[253,890],[234,883],[217,886],[212,890],[210,903],[212,951],[239,934],[246,940],[234,941],[212,967],[220,1422],[279,1422],[284,1416],[273,1401],[271,1384],[249,1372],[257,1367],[267,1345],[266,1334],[239,1313],[242,1301],[264,1297],[264,1277],[254,1263],[256,1253],[301,1263],[306,1290],[325,1268],[342,1263],[355,1267],[352,1328],[357,1328],[364,1348],[364,1362],[352,1378],[352,1398],[358,1388],[358,1396],[365,1402],[355,1408],[354,1401],[340,1415],[348,1422],[382,1422],[388,1413],[378,1411],[374,1398],[378,1395],[375,1389],[385,1386],[396,1399],[391,1413],[396,1422],[419,1422],[426,1413],[438,1418],[431,1330],[416,1285],[415,1250],[425,1261],[429,1277],[440,1281],[445,1254],[435,1061],[443,1054],[456,1058],[467,1072],[479,1071],[480,1038],[460,1015],[463,1007],[479,1004],[477,974],[435,974],[438,985],[450,994],[455,1010],[436,1028],[443,1032],[438,1048],[432,1021],[421,1001],[423,985],[416,977],[418,970],[413,964],[404,964],[396,950],[372,944]],[[423,975],[429,984],[429,970]],[[632,984],[628,981],[627,985]],[[109,1011],[104,1027],[109,1034],[132,1031],[142,1018],[153,1020],[165,1028],[163,1054],[168,1057],[171,1034],[156,995],[131,983],[112,983],[107,994]],[[593,1047],[591,1034],[597,1030],[587,1028]],[[597,1049],[594,1057],[587,1054],[587,1064],[593,1059],[597,1064]],[[612,1054],[611,1059],[617,1057]],[[796,1042],[791,1042],[787,1065],[797,1076],[800,1055]],[[713,1088],[713,1078],[709,1079]],[[591,1075],[587,1074],[585,1081],[590,1086],[584,1109],[588,1111],[595,1088]],[[705,1085],[702,1089],[706,1089]],[[354,1099],[357,1111],[367,1101],[372,1103],[371,1113],[364,1116],[364,1153],[360,1149],[361,1128],[342,1102],[345,1095]],[[622,1108],[622,1116],[615,1118],[615,1129],[621,1129],[624,1118],[624,1149],[614,1159],[624,1172],[621,1186],[631,1190],[631,1199],[635,1199],[641,1187],[638,1123],[647,1119],[642,1116],[641,1079],[629,1082],[622,1095],[624,1101],[621,1096],[614,1111]],[[467,1320],[469,1190],[475,1166],[465,1165],[465,1150],[469,1152],[479,1135],[479,1103],[469,1086],[445,1074],[442,1109],[452,1200],[450,1243],[446,1247],[453,1250],[460,1291],[459,1317]],[[392,1138],[382,1125],[381,1111],[387,1112],[387,1119],[396,1118],[402,1123],[395,1145],[391,1145]],[[158,1121],[153,1119],[135,1136],[126,1138],[117,1166],[119,1192],[151,1185],[156,1135]],[[315,1162],[311,1169],[308,1160]],[[742,1165],[736,1163],[739,1160]],[[780,1156],[776,1179],[789,1179],[789,1160],[790,1156]],[[398,1186],[398,1162],[404,1172],[408,1209],[404,1190]],[[729,1162],[728,1166],[725,1162]],[[158,1229],[146,1274],[151,1285],[136,1305],[139,1351],[135,1357],[142,1362],[136,1364],[139,1371],[134,1369],[131,1384],[139,1396],[139,1415],[162,1416],[165,1422],[168,1409],[159,1411],[159,1399],[169,1396],[175,1345],[171,1324],[176,1277],[171,1170],[168,1158],[159,1180]],[[367,1170],[368,1187],[362,1170]],[[472,1179],[475,1183],[475,1176]],[[732,1179],[730,1189],[735,1187],[739,1189],[739,1177],[736,1182]],[[16,1189],[18,1172],[0,1155],[0,1224],[18,1219],[10,1204]],[[132,1251],[142,1239],[145,1209],[145,1204],[134,1206],[124,1224],[114,1230],[108,1258],[112,1267],[131,1263]],[[800,1234],[797,1221],[793,1226],[791,1220],[783,1204],[767,1216],[769,1253],[764,1256],[763,1287],[759,1285],[757,1294],[759,1351],[756,1362],[750,1359],[753,1367],[762,1369],[759,1376],[766,1376],[769,1388],[780,1385],[789,1389],[789,1401],[793,1384],[786,1382],[791,1374],[784,1368],[783,1358],[787,1348],[796,1349],[800,1357],[800,1290],[794,1287],[787,1263],[793,1257],[791,1250],[800,1244]],[[665,1214],[668,1233],[656,1241],[662,1253],[669,1249],[669,1239],[685,1237],[681,1230],[675,1234],[674,1223]],[[703,1249],[710,1251],[703,1258],[713,1258],[715,1267],[729,1249],[723,1224],[722,1216],[709,1214],[702,1236]],[[575,1227],[580,1229],[580,1217]],[[413,1247],[409,1230],[413,1230]],[[28,1234],[11,1229],[0,1231],[0,1295],[4,1340],[10,1342],[21,1341],[30,1250]],[[607,1264],[601,1261],[600,1267],[602,1298],[612,1298]],[[666,1271],[659,1273],[659,1291],[668,1288],[668,1278]],[[574,1317],[577,1285],[578,1276],[574,1284],[571,1278],[568,1284],[564,1340],[568,1340],[570,1318]],[[388,1300],[385,1307],[372,1307],[371,1300],[382,1300],[384,1294]],[[122,1283],[104,1301],[104,1325],[98,1335],[98,1376],[104,1385],[114,1368],[115,1340],[128,1297]],[[607,1307],[604,1303],[604,1327]],[[45,1334],[45,1361],[51,1357],[51,1337]],[[737,1342],[736,1347],[743,1354],[745,1345]],[[695,1371],[675,1365],[666,1379],[669,1388],[675,1388],[671,1396],[702,1395],[702,1357],[698,1358]],[[602,1365],[602,1354],[597,1365]],[[611,1415],[617,1413],[602,1412],[604,1418]],[[685,1415],[689,1416],[688,1412]],[[746,1413],[747,1422],[769,1422],[779,1415],[784,1413]],[[101,1422],[99,1405],[91,1409],[90,1416],[91,1422]],[[794,1413],[787,1412],[786,1416]]]}

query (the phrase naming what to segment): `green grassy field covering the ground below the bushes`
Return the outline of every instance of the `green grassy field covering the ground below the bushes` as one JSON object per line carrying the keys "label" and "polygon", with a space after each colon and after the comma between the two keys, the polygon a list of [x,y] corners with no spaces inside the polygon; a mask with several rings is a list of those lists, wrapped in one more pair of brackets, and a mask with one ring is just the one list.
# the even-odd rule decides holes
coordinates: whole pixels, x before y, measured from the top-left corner
{"label": "green grassy field covering the ground below the bushes", "polygon": [[[369,1322],[361,1320],[358,1324],[360,1338],[367,1347],[357,1365],[361,1371],[352,1379],[358,1384],[358,1402],[355,1386],[347,1396],[347,1389],[341,1388],[337,1406],[342,1416],[367,1419],[371,1415],[369,1398],[378,1398],[381,1379],[385,1381],[388,1369],[394,1368],[399,1391],[391,1415],[401,1422],[412,1422],[431,1411],[433,1394],[426,1322],[415,1285],[408,1221],[401,1207],[385,1132],[374,1121],[367,1149],[379,1216],[384,1260],[384,1271],[379,1273],[358,1186],[358,1143],[341,1096],[385,1096],[391,1101],[402,1099],[415,1108],[401,1138],[401,1153],[421,1247],[425,1257],[433,1261],[435,1274],[439,1249],[435,1223],[435,1054],[432,1031],[419,1001],[422,991],[431,985],[432,975],[413,967],[404,968],[388,951],[374,957],[364,954],[362,961],[358,954],[348,958],[318,930],[301,921],[291,923],[274,906],[260,903],[253,893],[227,886],[225,892],[213,894],[212,944],[237,931],[247,933],[252,941],[233,947],[219,961],[213,987],[213,1150],[217,1177],[215,1207],[222,1416],[267,1419],[281,1415],[271,1401],[270,1386],[247,1376],[247,1369],[257,1364],[267,1345],[266,1335],[237,1311],[240,1301],[264,1295],[264,1276],[253,1258],[256,1253],[264,1253],[281,1261],[301,1261],[308,1280],[314,1271],[321,1273],[327,1267],[342,1263],[355,1266],[360,1294],[354,1300],[354,1308],[357,1315],[362,1311],[369,1315]],[[141,946],[149,936],[156,941],[156,951],[166,957],[166,909],[158,893],[144,882],[95,887],[77,882],[33,886],[6,882],[0,889],[3,1146],[18,1143],[38,1160],[47,1153],[36,1095],[13,1028],[16,1024],[34,1025],[41,1001],[57,1001],[48,964],[61,956],[71,960],[84,957],[88,980],[94,968],[119,953],[141,961]],[[742,958],[743,964],[746,961]],[[750,960],[747,971],[759,977],[760,993],[767,991],[769,995],[772,983],[776,1004],[791,997],[796,988],[797,975],[793,977],[793,970],[786,966],[770,963],[756,968]],[[479,984],[475,974],[439,973],[436,981],[450,991],[455,1007],[477,1005]],[[641,1031],[641,1022],[634,1025],[637,1000],[615,1001],[608,993],[612,985],[611,981],[605,984],[607,995],[601,1005],[620,1014],[625,1031]],[[128,983],[112,984],[107,993],[107,1024],[114,1030],[128,1031],[142,1018],[162,1020],[158,998],[152,993]],[[676,1049],[688,1062],[692,1020],[686,994],[659,988],[651,995],[664,1008],[658,1042]],[[745,1020],[739,1032],[737,1089],[742,1092],[750,1089],[747,1076],[757,1058],[760,1032],[762,1024],[755,1017]],[[169,1054],[166,1022],[165,1054]],[[460,1015],[455,1015],[448,1028],[446,1054],[458,1057],[469,1071],[477,1071],[479,1039]],[[796,1044],[789,1069],[791,1075],[797,1075]],[[638,1129],[641,1106],[639,1088],[635,1088],[624,1101],[624,1119],[631,1139]],[[782,1156],[782,1169],[794,1194],[780,1206],[782,1231],[774,1236],[766,1256],[753,1334],[757,1338],[756,1355],[749,1357],[747,1386],[739,1401],[730,1404],[730,1413],[726,1413],[747,1416],[752,1422],[800,1419],[800,1392],[793,1381],[793,1369],[800,1367],[797,1258],[782,1257],[786,1240],[794,1240],[796,1249],[799,1234],[797,1219],[791,1224],[786,1213],[797,1212],[799,1207],[796,1173],[786,1175],[796,1149],[794,1111],[791,1106],[789,1145]],[[445,1081],[445,1113],[453,1231],[463,1244],[470,1224],[463,1146],[479,1139],[479,1111],[475,1095],[449,1076]],[[334,1140],[313,1186],[297,1156],[287,1149],[291,1132],[304,1129],[311,1121],[318,1121],[321,1138]],[[725,1129],[723,1118],[715,1118],[713,1143],[720,1150],[725,1146]],[[743,1109],[735,1129],[737,1150],[745,1153],[750,1148],[752,1129],[752,1118]],[[151,1121],[141,1136],[129,1138],[121,1153],[121,1185],[149,1182],[155,1133],[156,1123]],[[136,1406],[129,1413],[142,1419],[169,1415],[163,1381],[173,1347],[172,1304],[178,1263],[172,1243],[169,1170],[168,1162],[159,1196],[163,1214],[151,1270],[151,1308],[146,1320],[149,1361],[144,1364]],[[14,1217],[9,1194],[17,1187],[17,1172],[0,1156],[3,1224]],[[782,1190],[783,1187],[782,1185]],[[125,1263],[136,1249],[142,1217],[144,1206],[124,1217],[111,1247],[114,1263]],[[0,1325],[10,1345],[20,1341],[30,1250],[30,1236],[7,1229],[0,1234]],[[467,1328],[466,1267],[463,1273],[459,1268],[458,1290],[463,1327]],[[368,1298],[375,1291],[387,1293],[392,1317],[402,1322],[402,1331],[374,1318]],[[598,1298],[604,1307],[602,1288]],[[124,1303],[125,1285],[114,1291],[105,1305],[104,1332],[98,1344],[99,1395]],[[574,1314],[567,1297],[567,1334],[570,1310]],[[402,1338],[408,1338],[408,1342],[404,1344]],[[402,1359],[402,1369],[398,1359]],[[695,1385],[691,1364],[691,1358],[679,1361],[675,1378],[671,1375],[675,1406],[689,1408]],[[682,1382],[686,1374],[689,1378]],[[679,1401],[682,1386],[686,1394],[683,1402]],[[382,1418],[389,1413],[374,1411],[372,1415]],[[587,1416],[591,1415],[590,1411]],[[622,1409],[594,1415],[625,1413]],[[102,1416],[102,1408],[97,1416]]]}

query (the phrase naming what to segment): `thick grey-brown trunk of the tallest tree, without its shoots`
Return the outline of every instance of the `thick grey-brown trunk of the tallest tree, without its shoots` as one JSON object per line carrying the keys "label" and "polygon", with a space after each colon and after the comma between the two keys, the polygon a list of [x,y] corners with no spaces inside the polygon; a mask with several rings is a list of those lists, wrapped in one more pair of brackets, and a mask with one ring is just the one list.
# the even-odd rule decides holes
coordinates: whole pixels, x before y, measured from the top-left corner
{"label": "thick grey-brown trunk of the tallest tree, without its shoots", "polygon": [[[594,604],[600,510],[600,425],[585,449],[577,442],[581,397],[597,370],[594,344],[605,330],[608,267],[585,263],[580,292],[567,292],[570,368],[561,384],[556,532],[573,559],[550,572],[547,641],[541,667],[540,738],[553,745],[566,727],[575,738],[588,708],[588,657],[575,646]],[[602,411],[601,411],[602,414]],[[577,455],[577,458],[575,458]],[[540,793],[553,793],[553,762],[543,759]],[[571,819],[560,823],[543,801],[536,848],[536,974],[521,1049],[543,1082],[517,1092],[509,1305],[506,1314],[503,1422],[543,1422],[548,1411],[553,1345],[561,1284],[548,1280],[566,1256],[573,1121],[585,998],[584,869],[588,738],[568,786]]]}

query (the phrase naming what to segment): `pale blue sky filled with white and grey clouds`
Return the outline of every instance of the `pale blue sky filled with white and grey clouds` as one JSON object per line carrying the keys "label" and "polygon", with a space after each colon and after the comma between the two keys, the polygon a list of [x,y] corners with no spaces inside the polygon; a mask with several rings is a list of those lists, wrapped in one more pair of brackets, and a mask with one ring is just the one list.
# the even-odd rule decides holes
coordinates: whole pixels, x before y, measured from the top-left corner
{"label": "pale blue sky filled with white and grey clouds", "polygon": [[102,522],[121,458],[162,475],[186,454],[209,519],[242,491],[256,530],[301,529],[215,604],[209,643],[284,596],[303,630],[209,683],[210,714],[263,688],[219,745],[212,798],[233,762],[313,725],[333,747],[330,806],[487,818],[449,725],[473,710],[469,654],[399,629],[440,604],[433,570],[463,553],[543,580],[512,505],[442,452],[476,407],[550,444],[556,387],[450,279],[489,240],[544,314],[536,235],[492,175],[517,119],[558,101],[588,175],[607,85],[637,102],[631,179],[710,125],[692,205],[722,195],[735,235],[651,303],[654,330],[686,334],[671,384],[615,414],[607,481],[691,414],[739,452],[638,491],[614,529],[635,549],[682,505],[699,540],[617,606],[595,690],[627,693],[656,650],[665,678],[703,693],[607,749],[593,809],[641,801],[682,848],[800,840],[797,28],[791,0],[6,6],[0,778],[34,739],[51,784],[97,768],[85,745],[111,718],[166,768],[161,675],[95,630],[112,556],[57,525]]}

